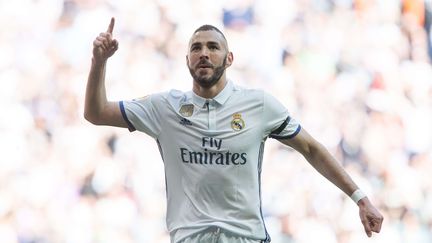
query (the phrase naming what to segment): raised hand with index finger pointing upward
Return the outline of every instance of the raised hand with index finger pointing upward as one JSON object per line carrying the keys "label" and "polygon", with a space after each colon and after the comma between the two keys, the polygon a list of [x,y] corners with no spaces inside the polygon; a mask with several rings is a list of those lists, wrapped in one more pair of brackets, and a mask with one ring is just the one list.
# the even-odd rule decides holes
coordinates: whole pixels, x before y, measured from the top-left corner
{"label": "raised hand with index finger pointing upward", "polygon": [[111,18],[111,22],[106,32],[102,32],[93,41],[93,58],[96,61],[106,61],[118,49],[118,41],[113,39],[115,19]]}

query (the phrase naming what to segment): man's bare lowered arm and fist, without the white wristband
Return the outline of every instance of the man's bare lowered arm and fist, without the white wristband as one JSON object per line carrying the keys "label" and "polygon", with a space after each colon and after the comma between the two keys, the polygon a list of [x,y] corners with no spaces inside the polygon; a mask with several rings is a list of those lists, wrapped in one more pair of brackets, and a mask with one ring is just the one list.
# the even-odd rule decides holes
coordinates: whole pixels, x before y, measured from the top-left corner
{"label": "man's bare lowered arm and fist, without the white wristband", "polygon": [[[327,149],[304,129],[294,138],[282,139],[279,141],[300,152],[320,174],[335,184],[348,196],[352,196],[352,194],[359,189],[348,173]],[[379,233],[383,216],[371,204],[367,197],[360,199],[357,205],[359,206],[360,220],[366,234],[371,237],[372,232]]]}

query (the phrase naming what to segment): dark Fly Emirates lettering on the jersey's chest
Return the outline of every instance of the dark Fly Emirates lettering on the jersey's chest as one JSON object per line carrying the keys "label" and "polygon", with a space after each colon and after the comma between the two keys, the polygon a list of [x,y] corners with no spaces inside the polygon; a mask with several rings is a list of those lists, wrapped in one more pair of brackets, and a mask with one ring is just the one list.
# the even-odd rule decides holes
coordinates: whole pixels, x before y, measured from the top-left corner
{"label": "dark Fly Emirates lettering on the jersey's chest", "polygon": [[201,165],[244,165],[247,162],[247,153],[233,153],[220,151],[222,139],[213,137],[202,138],[202,150],[191,151],[180,148],[180,157],[185,164]]}

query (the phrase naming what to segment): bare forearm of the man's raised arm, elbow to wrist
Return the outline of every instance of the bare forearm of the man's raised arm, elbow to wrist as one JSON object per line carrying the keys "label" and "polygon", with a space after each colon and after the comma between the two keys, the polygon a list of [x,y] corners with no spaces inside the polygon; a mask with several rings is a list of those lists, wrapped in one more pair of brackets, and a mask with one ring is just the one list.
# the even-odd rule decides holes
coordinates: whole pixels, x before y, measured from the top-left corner
{"label": "bare forearm of the man's raised arm, elbow to wrist", "polygon": [[84,104],[84,117],[92,123],[97,123],[98,117],[108,103],[105,90],[105,70],[106,61],[92,59]]}

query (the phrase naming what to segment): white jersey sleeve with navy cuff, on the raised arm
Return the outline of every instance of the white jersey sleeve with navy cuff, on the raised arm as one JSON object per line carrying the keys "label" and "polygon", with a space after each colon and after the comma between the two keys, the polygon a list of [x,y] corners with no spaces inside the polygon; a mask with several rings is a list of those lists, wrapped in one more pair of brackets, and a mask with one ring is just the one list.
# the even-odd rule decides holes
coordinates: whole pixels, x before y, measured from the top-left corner
{"label": "white jersey sleeve with navy cuff, on the raised arm", "polygon": [[123,119],[128,124],[129,131],[144,132],[153,138],[157,138],[161,131],[158,102],[155,102],[158,94],[149,95],[139,99],[120,101],[119,106]]}

